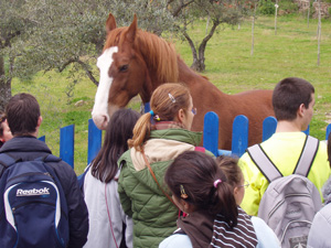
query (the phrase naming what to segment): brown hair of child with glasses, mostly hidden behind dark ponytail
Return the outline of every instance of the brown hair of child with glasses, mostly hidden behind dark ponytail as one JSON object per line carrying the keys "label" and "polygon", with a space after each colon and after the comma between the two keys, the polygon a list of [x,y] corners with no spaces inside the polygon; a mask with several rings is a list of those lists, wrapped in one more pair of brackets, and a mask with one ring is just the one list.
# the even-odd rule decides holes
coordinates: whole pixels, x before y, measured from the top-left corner
{"label": "brown hair of child with glasses, mostly hidden behind dark ponytail", "polygon": [[218,168],[224,172],[227,183],[233,187],[238,186],[243,180],[243,172],[238,165],[238,159],[221,155],[216,158]]}

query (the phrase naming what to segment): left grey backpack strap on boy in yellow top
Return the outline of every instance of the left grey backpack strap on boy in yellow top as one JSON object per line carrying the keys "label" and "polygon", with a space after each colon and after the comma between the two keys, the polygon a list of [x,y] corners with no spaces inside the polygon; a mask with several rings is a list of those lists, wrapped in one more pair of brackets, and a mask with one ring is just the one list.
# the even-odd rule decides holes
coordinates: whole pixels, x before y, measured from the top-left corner
{"label": "left grey backpack strap on boy in yellow top", "polygon": [[247,152],[253,162],[256,164],[258,170],[263,173],[263,175],[268,180],[269,183],[282,176],[280,171],[275,166],[275,164],[261,149],[260,144],[257,143],[250,148],[247,148]]}

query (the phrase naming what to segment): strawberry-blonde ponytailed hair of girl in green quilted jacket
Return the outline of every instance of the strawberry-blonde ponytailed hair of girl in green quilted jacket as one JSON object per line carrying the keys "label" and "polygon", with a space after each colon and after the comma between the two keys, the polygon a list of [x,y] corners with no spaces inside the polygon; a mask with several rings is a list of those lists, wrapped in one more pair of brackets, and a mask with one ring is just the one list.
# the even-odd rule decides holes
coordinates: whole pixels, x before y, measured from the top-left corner
{"label": "strawberry-blonde ponytailed hair of girl in green quilted jacket", "polygon": [[[190,89],[178,83],[167,83],[159,86],[150,99],[150,108],[162,121],[172,121],[180,109],[188,110],[190,104]],[[142,115],[134,128],[134,137],[128,140],[129,148],[142,150],[143,143],[150,137],[151,114]]]}

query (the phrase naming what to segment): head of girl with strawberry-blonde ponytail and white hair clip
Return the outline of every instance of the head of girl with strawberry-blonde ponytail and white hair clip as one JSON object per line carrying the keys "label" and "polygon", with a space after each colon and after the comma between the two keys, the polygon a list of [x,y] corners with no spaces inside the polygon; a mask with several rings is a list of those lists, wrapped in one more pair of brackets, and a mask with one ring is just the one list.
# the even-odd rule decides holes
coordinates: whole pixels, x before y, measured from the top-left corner
{"label": "head of girl with strawberry-blonde ponytail and white hair clip", "polygon": [[138,120],[134,129],[134,138],[129,147],[141,149],[142,143],[149,138],[151,117],[158,121],[177,121],[183,128],[191,130],[195,109],[189,88],[183,84],[168,83],[159,86],[150,99],[151,111]]}

